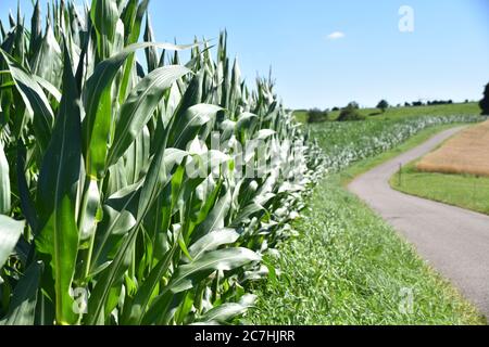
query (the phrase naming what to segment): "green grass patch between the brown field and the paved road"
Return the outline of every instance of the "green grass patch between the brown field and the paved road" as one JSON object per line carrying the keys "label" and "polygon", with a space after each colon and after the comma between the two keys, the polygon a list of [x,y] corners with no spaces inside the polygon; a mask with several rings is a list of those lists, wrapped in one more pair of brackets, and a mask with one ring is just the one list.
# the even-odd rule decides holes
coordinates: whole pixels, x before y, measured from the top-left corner
{"label": "green grass patch between the brown field and the paved road", "polygon": [[391,178],[393,189],[489,215],[489,178],[419,172],[415,164],[411,163],[402,169],[401,184],[399,174]]}

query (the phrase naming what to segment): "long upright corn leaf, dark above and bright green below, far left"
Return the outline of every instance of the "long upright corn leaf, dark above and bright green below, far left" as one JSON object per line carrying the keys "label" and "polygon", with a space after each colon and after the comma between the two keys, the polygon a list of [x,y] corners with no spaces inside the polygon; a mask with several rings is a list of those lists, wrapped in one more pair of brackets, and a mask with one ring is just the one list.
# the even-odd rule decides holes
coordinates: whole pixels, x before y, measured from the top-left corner
{"label": "long upright corn leaf, dark above and bright green below, far left", "polygon": [[73,324],[70,295],[78,250],[75,190],[80,172],[80,105],[67,49],[64,49],[63,99],[39,175],[40,253],[51,258],[55,314],[59,324]]}

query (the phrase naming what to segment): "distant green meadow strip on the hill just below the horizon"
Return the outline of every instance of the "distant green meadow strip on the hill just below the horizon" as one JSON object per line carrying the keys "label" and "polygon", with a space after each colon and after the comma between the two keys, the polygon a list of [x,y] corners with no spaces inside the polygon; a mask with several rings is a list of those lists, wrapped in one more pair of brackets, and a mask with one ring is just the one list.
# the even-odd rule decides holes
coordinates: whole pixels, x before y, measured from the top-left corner
{"label": "distant green meadow strip on the hill just below the horizon", "polygon": [[[417,116],[441,116],[441,115],[478,115],[480,108],[476,102],[457,103],[451,105],[416,106],[416,107],[391,107],[386,113],[380,114],[378,108],[362,108],[362,115],[368,119],[383,120],[386,118],[417,117]],[[305,123],[308,112],[296,111],[294,116],[298,121]],[[340,112],[331,112],[329,118],[335,120]]]}

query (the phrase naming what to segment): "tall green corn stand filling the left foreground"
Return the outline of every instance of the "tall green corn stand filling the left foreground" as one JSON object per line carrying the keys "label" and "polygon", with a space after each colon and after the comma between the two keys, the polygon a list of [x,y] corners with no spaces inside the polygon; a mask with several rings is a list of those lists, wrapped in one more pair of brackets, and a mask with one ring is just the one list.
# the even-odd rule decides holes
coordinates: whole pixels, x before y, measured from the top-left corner
{"label": "tall green corn stand filling the left foreground", "polygon": [[250,89],[225,33],[156,43],[148,1],[38,2],[9,22],[0,323],[236,322],[319,164],[273,80]]}

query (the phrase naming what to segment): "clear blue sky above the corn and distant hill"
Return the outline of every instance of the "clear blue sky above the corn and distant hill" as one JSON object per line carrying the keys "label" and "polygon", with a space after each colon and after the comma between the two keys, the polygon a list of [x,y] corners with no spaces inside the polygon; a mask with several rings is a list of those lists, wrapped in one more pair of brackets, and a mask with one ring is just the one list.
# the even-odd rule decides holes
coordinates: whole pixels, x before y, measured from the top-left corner
{"label": "clear blue sky above the corn and distant hill", "polygon": [[[0,0],[0,17],[15,5]],[[413,33],[399,30],[401,5]],[[272,66],[289,107],[478,100],[489,82],[488,0],[152,0],[150,11],[159,41],[227,28],[244,77]]]}

